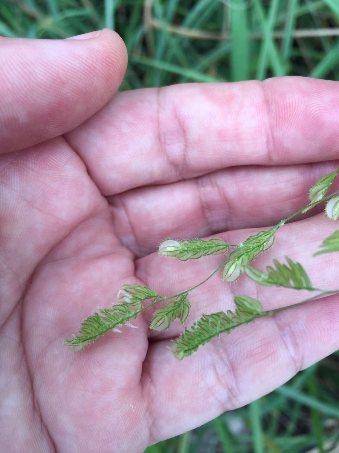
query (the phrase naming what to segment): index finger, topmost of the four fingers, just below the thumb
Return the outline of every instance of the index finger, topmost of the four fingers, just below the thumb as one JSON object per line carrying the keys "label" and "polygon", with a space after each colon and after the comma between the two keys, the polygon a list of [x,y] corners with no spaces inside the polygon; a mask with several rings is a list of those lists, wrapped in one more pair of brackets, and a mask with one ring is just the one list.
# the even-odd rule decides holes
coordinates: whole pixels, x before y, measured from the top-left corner
{"label": "index finger, topmost of the four fingers, just below the thumb", "polygon": [[279,77],[125,92],[67,140],[105,195],[235,165],[336,159],[338,87]]}

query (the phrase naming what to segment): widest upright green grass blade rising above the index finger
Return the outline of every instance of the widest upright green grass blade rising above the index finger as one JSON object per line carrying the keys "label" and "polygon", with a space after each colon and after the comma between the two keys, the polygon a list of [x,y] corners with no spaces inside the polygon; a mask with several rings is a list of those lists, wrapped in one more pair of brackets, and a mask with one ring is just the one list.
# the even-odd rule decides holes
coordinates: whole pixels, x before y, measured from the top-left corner
{"label": "widest upright green grass blade rising above the index finger", "polygon": [[229,14],[231,26],[231,80],[248,79],[248,26],[247,0],[231,0]]}

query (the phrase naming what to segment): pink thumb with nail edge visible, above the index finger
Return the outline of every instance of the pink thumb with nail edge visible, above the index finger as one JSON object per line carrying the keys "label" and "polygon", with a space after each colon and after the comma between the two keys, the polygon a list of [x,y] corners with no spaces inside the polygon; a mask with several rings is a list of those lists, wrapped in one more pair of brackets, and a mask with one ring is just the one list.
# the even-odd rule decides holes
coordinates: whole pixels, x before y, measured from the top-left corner
{"label": "pink thumb with nail edge visible, above the index finger", "polygon": [[108,29],[87,38],[0,38],[0,152],[64,134],[111,98],[124,76],[124,43]]}

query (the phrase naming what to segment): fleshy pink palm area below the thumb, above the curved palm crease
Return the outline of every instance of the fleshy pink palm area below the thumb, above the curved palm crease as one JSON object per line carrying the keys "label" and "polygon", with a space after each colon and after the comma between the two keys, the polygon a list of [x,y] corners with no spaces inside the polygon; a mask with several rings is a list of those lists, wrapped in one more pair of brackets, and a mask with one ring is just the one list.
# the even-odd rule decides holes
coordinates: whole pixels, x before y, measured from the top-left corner
{"label": "fleshy pink palm area below the thumb, above the curved palm crease", "polygon": [[[0,157],[0,325],[38,263],[107,203],[62,137]],[[78,243],[80,249],[83,240]],[[71,249],[69,250],[70,253]]]}

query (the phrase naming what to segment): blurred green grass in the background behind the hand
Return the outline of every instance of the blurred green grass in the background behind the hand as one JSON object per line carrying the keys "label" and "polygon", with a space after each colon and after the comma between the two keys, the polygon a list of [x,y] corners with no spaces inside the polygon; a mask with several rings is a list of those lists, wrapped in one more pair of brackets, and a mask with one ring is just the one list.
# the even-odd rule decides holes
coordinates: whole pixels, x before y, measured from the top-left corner
{"label": "blurred green grass in the background behind the hand", "polygon": [[[124,39],[121,90],[302,75],[339,80],[339,0],[2,0],[0,35]],[[339,452],[339,352],[147,453]]]}

